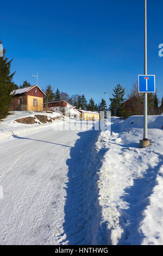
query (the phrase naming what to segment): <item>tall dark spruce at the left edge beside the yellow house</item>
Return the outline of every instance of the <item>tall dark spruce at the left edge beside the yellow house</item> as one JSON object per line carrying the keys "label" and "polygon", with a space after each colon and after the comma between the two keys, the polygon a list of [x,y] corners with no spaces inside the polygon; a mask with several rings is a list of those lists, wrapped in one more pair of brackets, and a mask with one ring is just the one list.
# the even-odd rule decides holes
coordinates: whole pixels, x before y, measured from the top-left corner
{"label": "tall dark spruce at the left edge beside the yellow house", "polygon": [[16,84],[12,81],[15,72],[10,74],[11,62],[12,59],[8,62],[3,49],[3,57],[0,57],[0,119],[7,116],[8,106],[12,100],[11,92],[16,89]]}

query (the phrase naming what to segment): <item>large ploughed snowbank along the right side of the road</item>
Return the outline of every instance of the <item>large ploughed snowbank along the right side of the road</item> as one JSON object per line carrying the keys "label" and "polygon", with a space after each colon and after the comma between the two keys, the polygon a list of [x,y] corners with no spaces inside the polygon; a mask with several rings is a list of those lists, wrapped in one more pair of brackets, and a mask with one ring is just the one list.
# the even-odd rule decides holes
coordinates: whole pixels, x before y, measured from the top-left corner
{"label": "large ploughed snowbank along the right side of the road", "polygon": [[153,139],[145,149],[139,148],[142,117],[123,122],[113,118],[112,132],[101,132],[96,143],[102,157],[96,177],[97,215],[101,215],[93,238],[97,245],[103,244],[100,237],[107,237],[110,245],[163,244],[162,121],[162,115],[148,117]]}

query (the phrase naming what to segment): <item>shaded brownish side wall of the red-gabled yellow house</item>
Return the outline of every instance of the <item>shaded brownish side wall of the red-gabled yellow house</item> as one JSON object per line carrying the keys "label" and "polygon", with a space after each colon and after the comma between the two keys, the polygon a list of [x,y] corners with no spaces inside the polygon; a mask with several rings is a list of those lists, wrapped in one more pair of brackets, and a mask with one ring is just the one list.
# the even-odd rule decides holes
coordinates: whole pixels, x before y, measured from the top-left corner
{"label": "shaded brownish side wall of the red-gabled yellow house", "polygon": [[[22,105],[18,105],[18,99],[22,99]],[[27,111],[27,96],[25,94],[13,96],[9,111]]]}

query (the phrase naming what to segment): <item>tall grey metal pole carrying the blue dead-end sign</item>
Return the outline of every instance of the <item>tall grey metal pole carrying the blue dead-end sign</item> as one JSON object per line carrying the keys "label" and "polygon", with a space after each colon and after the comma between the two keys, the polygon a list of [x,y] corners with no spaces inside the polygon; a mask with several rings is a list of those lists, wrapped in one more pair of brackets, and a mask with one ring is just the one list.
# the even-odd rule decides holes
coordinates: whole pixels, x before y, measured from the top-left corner
{"label": "tall grey metal pole carrying the blue dead-end sign", "polygon": [[[147,0],[145,0],[145,50],[144,50],[144,75],[147,75]],[[143,132],[143,139],[147,140],[148,137],[148,121],[147,121],[147,114],[148,114],[148,94],[144,93],[144,132]]]}

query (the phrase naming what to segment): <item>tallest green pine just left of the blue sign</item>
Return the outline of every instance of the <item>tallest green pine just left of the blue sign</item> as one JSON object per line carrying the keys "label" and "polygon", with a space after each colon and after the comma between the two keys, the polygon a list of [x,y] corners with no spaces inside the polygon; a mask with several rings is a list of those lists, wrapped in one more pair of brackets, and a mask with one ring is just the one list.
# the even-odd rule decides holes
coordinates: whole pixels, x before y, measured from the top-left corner
{"label": "tallest green pine just left of the blue sign", "polygon": [[122,88],[121,84],[117,84],[117,86],[113,89],[112,98],[110,98],[110,110],[112,115],[117,115],[121,117],[121,109],[118,112],[118,108],[124,103],[124,94],[125,89]]}

